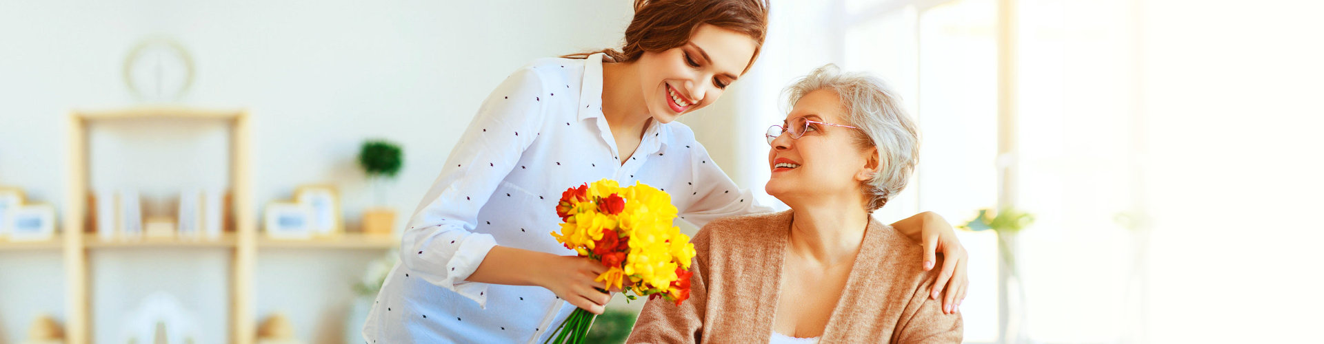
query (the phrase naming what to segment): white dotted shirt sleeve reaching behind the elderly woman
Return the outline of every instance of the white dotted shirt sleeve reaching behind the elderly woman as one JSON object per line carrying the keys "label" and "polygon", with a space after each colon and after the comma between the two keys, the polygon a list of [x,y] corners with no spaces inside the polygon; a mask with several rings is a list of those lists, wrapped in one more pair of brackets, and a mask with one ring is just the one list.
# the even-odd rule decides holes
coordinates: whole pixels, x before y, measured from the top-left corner
{"label": "white dotted shirt sleeve reaching behind the elderly woman", "polygon": [[703,228],[712,220],[728,216],[773,212],[771,206],[761,205],[755,200],[753,191],[740,189],[727,173],[722,172],[722,168],[708,156],[708,150],[698,142],[694,146],[695,150],[691,155],[694,161],[690,165],[698,198],[681,210],[681,217],[685,221]]}

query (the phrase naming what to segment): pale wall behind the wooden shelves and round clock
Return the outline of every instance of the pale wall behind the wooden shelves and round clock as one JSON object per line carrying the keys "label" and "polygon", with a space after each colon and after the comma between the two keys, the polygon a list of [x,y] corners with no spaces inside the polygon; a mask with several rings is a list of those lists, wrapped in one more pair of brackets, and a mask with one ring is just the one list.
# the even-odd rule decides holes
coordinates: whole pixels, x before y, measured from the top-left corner
{"label": "pale wall behind the wooden shelves and round clock", "polygon": [[[197,67],[195,85],[180,103],[252,111],[258,206],[289,198],[301,184],[334,184],[340,188],[347,224],[356,229],[372,194],[354,157],[363,140],[385,138],[405,151],[405,167],[388,198],[408,216],[441,169],[455,135],[507,73],[538,57],[616,46],[632,13],[630,1],[588,0],[4,1],[0,184],[21,187],[30,200],[62,209],[65,114],[136,105],[120,66],[135,42],[164,34],[183,42]],[[107,136],[142,134],[118,128]],[[376,257],[375,251],[263,250],[257,269],[258,316],[285,311],[299,337],[335,343],[339,336],[320,332],[342,332],[340,316],[326,314],[348,307],[350,284]],[[114,308],[134,304],[110,302],[105,291],[162,288],[225,298],[224,283],[156,280],[152,273],[130,266],[142,259],[226,266],[222,255],[95,251],[93,259],[97,325],[123,311]],[[36,314],[64,319],[64,303],[56,296],[62,295],[62,277],[36,275],[32,266],[53,270],[60,266],[58,254],[0,255],[0,280],[7,282],[0,287],[0,343],[25,337]],[[99,271],[107,266],[126,269]],[[299,269],[315,278],[303,286],[286,284],[302,280],[287,278]],[[277,295],[294,291],[298,298]],[[218,324],[214,333],[226,328]],[[98,328],[94,339],[107,341],[111,335]]]}

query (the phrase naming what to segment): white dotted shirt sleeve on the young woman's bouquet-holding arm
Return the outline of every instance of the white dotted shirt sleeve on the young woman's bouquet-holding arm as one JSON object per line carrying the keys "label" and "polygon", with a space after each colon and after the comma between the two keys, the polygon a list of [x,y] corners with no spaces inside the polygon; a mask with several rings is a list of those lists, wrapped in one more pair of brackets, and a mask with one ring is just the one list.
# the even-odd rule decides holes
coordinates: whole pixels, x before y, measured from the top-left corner
{"label": "white dotted shirt sleeve on the young woman's bouquet-holding arm", "polygon": [[[487,304],[487,284],[467,282],[496,246],[474,233],[478,210],[519,163],[543,126],[543,78],[534,67],[512,73],[483,101],[404,230],[400,262],[429,283]],[[437,128],[438,135],[454,135]]]}

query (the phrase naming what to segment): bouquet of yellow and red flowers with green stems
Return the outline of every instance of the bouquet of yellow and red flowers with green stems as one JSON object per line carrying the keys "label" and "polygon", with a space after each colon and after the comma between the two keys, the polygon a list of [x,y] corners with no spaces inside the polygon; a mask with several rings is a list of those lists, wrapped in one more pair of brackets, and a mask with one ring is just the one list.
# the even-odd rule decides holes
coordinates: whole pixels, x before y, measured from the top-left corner
{"label": "bouquet of yellow and red flowers with green stems", "polygon": [[[666,192],[643,183],[621,188],[604,179],[567,189],[556,214],[561,230],[552,237],[608,267],[594,279],[602,282],[604,291],[620,290],[628,300],[663,298],[677,306],[690,298],[694,245],[671,224],[677,209]],[[593,316],[575,310],[548,340],[583,343]]]}

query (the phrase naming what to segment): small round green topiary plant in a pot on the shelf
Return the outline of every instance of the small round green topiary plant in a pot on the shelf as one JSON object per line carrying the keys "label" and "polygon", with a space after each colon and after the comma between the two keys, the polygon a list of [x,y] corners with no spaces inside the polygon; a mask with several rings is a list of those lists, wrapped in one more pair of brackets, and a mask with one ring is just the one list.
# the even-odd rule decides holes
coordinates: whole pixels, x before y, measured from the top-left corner
{"label": "small round green topiary plant in a pot on the shelf", "polygon": [[363,212],[363,233],[389,236],[396,224],[396,210],[385,206],[385,184],[396,177],[404,165],[400,146],[385,140],[368,140],[359,150],[359,165],[372,184],[376,206]]}

